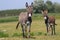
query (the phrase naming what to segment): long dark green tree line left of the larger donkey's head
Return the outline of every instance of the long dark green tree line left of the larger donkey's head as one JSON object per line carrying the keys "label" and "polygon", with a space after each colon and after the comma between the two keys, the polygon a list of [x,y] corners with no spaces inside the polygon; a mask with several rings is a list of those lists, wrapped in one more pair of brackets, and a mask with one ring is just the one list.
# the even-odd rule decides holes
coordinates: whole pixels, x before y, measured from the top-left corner
{"label": "long dark green tree line left of the larger donkey's head", "polygon": [[13,10],[3,10],[0,11],[0,17],[7,17],[7,16],[17,16],[21,12],[25,12],[25,9],[13,9]]}

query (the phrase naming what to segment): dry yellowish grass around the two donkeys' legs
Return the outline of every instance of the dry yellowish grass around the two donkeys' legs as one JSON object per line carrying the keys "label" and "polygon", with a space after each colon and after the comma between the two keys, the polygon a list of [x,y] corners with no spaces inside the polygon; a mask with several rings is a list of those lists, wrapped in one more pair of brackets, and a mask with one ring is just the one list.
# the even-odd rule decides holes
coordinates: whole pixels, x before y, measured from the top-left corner
{"label": "dry yellowish grass around the two donkeys' legs", "polygon": [[[57,19],[56,23],[56,35],[50,36],[46,35],[46,27],[43,20],[35,20],[32,22],[31,26],[31,36],[30,40],[60,40],[60,20]],[[8,23],[0,23],[0,30],[6,30],[9,37],[4,38],[4,40],[28,40],[22,38],[22,30],[19,27],[17,30],[15,29],[17,22],[8,22]],[[20,25],[19,25],[20,26]]]}

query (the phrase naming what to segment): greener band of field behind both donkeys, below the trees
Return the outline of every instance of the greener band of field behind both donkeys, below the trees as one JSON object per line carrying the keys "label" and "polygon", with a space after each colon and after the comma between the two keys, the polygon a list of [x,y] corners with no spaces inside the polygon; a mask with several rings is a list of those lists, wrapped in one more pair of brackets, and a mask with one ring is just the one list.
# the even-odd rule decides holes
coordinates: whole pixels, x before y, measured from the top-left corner
{"label": "greener band of field behind both donkeys, below the trees", "polygon": [[[55,16],[56,19],[60,19],[60,14],[59,13],[49,13],[49,16]],[[43,16],[42,14],[36,13],[33,14],[32,20],[42,20]],[[2,17],[0,18],[0,23],[5,23],[5,22],[14,22],[18,21],[18,16],[10,16],[10,17]]]}

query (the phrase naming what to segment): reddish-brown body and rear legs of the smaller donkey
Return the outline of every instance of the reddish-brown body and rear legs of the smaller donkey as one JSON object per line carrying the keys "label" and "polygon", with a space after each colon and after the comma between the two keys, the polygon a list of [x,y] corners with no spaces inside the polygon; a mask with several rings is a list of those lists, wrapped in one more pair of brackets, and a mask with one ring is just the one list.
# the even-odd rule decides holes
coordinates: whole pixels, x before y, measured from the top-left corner
{"label": "reddish-brown body and rear legs of the smaller donkey", "polygon": [[48,19],[48,23],[49,23],[49,30],[50,30],[50,28],[51,28],[51,35],[55,35],[56,34],[56,32],[55,32],[55,25],[57,25],[56,23],[55,23],[55,17],[54,16],[50,16],[49,17],[49,19]]}

